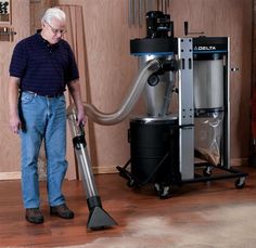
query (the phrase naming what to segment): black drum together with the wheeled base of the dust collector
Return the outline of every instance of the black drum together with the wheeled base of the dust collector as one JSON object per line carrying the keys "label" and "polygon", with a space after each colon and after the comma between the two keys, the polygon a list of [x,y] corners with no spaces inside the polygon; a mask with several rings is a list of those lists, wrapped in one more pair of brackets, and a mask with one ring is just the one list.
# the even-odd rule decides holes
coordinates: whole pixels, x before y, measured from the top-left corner
{"label": "black drum together with the wheeled base of the dust collector", "polygon": [[245,186],[248,174],[230,168],[227,162],[221,166],[208,161],[185,164],[184,168],[193,168],[193,171],[184,179],[179,161],[179,129],[177,118],[131,119],[128,130],[130,159],[124,167],[116,167],[129,187],[153,184],[159,198],[169,198],[170,190],[184,183],[235,178],[235,188]]}

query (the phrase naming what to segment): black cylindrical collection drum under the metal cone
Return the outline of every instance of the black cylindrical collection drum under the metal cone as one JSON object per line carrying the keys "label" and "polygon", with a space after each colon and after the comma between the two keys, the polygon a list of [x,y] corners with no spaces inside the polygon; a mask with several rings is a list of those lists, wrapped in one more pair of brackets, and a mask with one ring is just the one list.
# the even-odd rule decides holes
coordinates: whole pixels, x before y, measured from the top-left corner
{"label": "black cylindrical collection drum under the metal cone", "polygon": [[131,174],[140,184],[180,181],[177,118],[132,119],[129,142]]}

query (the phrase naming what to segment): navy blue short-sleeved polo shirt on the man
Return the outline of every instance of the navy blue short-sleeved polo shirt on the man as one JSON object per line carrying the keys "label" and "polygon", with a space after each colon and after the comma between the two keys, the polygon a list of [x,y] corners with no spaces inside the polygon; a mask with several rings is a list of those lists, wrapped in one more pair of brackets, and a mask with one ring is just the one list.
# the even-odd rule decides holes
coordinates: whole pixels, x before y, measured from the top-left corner
{"label": "navy blue short-sleeved polo shirt on the man", "polygon": [[59,94],[79,74],[69,44],[61,39],[51,45],[37,32],[14,48],[10,76],[21,78],[22,91],[41,95]]}

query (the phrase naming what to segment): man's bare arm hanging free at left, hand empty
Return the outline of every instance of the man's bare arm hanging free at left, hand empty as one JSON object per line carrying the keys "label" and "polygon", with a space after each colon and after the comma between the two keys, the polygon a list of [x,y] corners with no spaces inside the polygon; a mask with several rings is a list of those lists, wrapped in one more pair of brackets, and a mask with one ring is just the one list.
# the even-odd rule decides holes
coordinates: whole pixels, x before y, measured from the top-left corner
{"label": "man's bare arm hanging free at left, hand empty", "polygon": [[22,128],[22,122],[18,117],[17,110],[17,101],[18,101],[18,86],[20,78],[10,77],[9,82],[9,122],[10,128],[14,133],[18,133],[18,130]]}

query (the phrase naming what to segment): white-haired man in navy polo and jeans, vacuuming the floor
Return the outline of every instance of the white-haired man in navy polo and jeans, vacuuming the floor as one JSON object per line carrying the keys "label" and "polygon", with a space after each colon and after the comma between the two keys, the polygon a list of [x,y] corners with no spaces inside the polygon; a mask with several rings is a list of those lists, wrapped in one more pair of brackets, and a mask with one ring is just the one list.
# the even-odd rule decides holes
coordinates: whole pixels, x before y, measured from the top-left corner
{"label": "white-haired man in navy polo and jeans, vacuuming the floor", "polygon": [[20,41],[10,64],[10,127],[21,136],[22,191],[26,220],[42,223],[37,160],[42,139],[47,155],[50,214],[74,218],[62,194],[66,156],[67,86],[77,108],[77,125],[85,125],[77,65],[63,40],[65,13],[50,8],[37,34]]}

